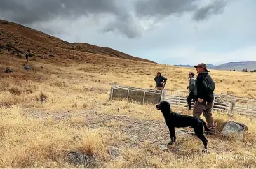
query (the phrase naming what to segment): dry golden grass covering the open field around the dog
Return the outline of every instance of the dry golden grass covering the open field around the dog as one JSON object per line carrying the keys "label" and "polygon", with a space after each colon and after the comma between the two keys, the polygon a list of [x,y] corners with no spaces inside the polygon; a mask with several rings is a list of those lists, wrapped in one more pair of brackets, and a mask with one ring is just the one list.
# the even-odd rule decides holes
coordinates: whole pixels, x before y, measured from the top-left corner
{"label": "dry golden grass covering the open field around the dog", "polygon": [[[111,59],[106,64],[69,66],[33,62],[35,73],[19,68],[20,62],[14,58],[0,63],[15,70],[0,73],[1,168],[84,167],[67,161],[69,151],[93,155],[98,160],[95,167],[105,168],[256,167],[256,124],[250,118],[234,117],[249,128],[243,141],[208,136],[209,154],[201,153],[201,142],[191,135],[178,135],[177,143],[162,151],[159,145],[166,145],[169,135],[154,105],[109,102],[113,82],[154,88],[154,75],[161,71],[168,78],[168,91],[185,90],[193,69]],[[256,73],[210,75],[216,93],[256,98]],[[184,108],[173,110],[191,115]],[[230,118],[214,112],[217,130]],[[121,158],[109,156],[111,145],[119,148]]]}

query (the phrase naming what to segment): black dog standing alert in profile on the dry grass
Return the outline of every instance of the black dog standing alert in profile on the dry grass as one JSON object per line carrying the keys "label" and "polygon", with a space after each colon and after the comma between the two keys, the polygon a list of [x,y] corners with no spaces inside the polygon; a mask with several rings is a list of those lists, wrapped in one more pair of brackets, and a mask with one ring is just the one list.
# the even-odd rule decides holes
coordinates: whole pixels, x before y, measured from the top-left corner
{"label": "black dog standing alert in profile on the dry grass", "polygon": [[198,119],[196,117],[188,116],[188,115],[180,115],[175,112],[172,112],[170,109],[170,103],[166,101],[162,101],[159,105],[156,105],[158,110],[161,110],[163,113],[163,117],[166,121],[166,125],[170,131],[170,143],[168,145],[173,145],[176,140],[175,136],[175,127],[188,127],[191,126],[194,128],[194,132],[197,137],[200,138],[203,142],[203,152],[207,151],[207,142],[208,140],[203,135],[203,127],[208,131],[209,129],[206,126],[206,122],[203,119]]}

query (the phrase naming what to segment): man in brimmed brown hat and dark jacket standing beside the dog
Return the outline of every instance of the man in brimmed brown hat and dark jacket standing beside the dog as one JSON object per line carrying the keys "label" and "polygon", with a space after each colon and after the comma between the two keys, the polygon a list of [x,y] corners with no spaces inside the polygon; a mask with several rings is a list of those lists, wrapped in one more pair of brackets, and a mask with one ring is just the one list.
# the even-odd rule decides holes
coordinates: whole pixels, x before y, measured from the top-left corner
{"label": "man in brimmed brown hat and dark jacket standing beside the dog", "polygon": [[206,64],[198,64],[194,66],[198,73],[196,80],[196,100],[193,109],[193,116],[200,118],[201,114],[206,117],[207,126],[210,129],[208,134],[215,134],[215,126],[213,122],[212,107],[213,107],[213,91],[215,82],[209,75]]}

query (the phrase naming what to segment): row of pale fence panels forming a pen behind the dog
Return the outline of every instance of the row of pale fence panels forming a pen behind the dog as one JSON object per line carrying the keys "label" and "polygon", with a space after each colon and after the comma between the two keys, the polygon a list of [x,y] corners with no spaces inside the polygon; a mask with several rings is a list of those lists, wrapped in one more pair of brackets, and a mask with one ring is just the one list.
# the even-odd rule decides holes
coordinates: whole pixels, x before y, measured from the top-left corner
{"label": "row of pale fence panels forming a pen behind the dog", "polygon": [[[187,107],[188,95],[189,91],[158,91],[113,84],[110,91],[110,100],[126,98],[128,101],[133,100],[141,103],[168,101],[172,106]],[[194,101],[191,101],[191,103],[193,107]],[[256,117],[256,99],[235,97],[230,94],[214,94],[213,110]]]}

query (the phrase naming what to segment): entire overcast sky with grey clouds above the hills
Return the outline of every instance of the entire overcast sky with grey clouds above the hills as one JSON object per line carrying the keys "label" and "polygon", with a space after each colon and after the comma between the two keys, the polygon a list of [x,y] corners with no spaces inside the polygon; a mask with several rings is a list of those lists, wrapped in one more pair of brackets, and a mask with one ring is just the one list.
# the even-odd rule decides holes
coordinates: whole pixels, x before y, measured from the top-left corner
{"label": "entire overcast sky with grey clouds above the hills", "polygon": [[0,18],[162,64],[256,61],[256,0],[0,0]]}

